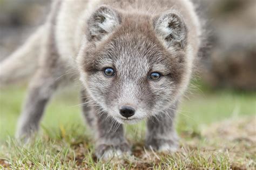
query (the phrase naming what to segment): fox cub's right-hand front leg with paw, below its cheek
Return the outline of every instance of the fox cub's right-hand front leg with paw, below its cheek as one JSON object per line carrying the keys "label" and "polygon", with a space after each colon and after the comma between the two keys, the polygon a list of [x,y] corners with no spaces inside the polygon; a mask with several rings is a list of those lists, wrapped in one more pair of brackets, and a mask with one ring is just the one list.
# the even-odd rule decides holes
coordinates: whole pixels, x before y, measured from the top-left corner
{"label": "fox cub's right-hand front leg with paw, below its cheek", "polygon": [[147,121],[146,146],[159,152],[174,152],[178,148],[178,137],[173,119],[177,104]]}

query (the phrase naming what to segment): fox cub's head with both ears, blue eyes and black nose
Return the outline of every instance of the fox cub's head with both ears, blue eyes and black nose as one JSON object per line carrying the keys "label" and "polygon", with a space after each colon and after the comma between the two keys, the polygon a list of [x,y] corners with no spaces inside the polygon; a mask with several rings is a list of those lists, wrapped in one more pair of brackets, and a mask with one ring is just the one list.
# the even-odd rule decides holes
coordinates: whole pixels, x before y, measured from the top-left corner
{"label": "fox cub's head with both ears, blue eyes and black nose", "polygon": [[93,103],[119,123],[133,124],[169,109],[186,70],[186,26],[178,14],[123,14],[108,6],[86,23],[80,80]]}

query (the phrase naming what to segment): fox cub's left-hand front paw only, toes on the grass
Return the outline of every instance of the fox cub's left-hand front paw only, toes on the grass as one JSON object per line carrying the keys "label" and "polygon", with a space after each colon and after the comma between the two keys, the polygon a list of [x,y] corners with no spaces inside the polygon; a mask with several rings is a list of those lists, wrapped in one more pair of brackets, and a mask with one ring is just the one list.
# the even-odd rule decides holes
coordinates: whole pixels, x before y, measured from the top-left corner
{"label": "fox cub's left-hand front paw only, toes on the grass", "polygon": [[119,145],[100,144],[96,147],[95,154],[99,159],[110,160],[113,158],[123,157],[124,155],[130,155],[131,147],[127,143]]}

